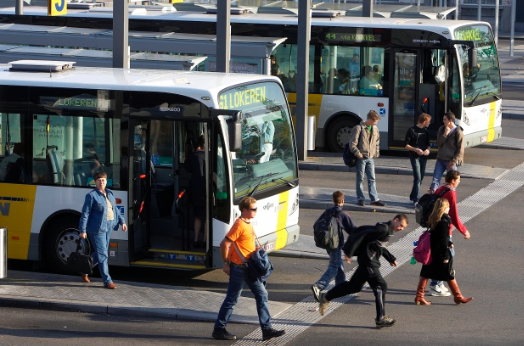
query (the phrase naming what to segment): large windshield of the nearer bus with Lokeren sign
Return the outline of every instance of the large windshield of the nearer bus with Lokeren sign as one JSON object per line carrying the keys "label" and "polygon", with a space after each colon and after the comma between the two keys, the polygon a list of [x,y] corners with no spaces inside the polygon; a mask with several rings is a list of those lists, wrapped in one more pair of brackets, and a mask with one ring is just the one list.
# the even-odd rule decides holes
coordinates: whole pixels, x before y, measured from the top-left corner
{"label": "large windshield of the nearer bus with Lokeren sign", "polygon": [[291,117],[277,83],[229,89],[220,95],[220,108],[244,114],[242,149],[232,153],[236,199],[297,178]]}

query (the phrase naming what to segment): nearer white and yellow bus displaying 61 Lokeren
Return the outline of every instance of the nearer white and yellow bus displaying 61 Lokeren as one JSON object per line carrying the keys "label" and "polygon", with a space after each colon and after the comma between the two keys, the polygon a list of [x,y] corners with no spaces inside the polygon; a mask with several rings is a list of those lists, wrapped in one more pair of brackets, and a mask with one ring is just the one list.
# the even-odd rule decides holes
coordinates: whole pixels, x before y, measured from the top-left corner
{"label": "nearer white and yellow bus displaying 61 Lokeren", "polygon": [[[221,266],[220,241],[247,195],[258,200],[255,229],[267,250],[298,240],[295,137],[278,78],[72,66],[0,66],[0,227],[9,258],[67,271],[98,170],[129,225],[112,234],[111,265]],[[261,162],[268,122],[273,148]],[[202,135],[206,245],[195,249],[184,164]]]}

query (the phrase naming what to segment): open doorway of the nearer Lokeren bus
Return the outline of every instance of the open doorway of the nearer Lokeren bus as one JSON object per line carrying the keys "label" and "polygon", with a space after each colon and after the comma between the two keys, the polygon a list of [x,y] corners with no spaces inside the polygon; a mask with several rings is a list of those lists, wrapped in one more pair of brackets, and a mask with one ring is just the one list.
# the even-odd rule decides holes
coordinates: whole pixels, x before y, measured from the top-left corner
{"label": "open doorway of the nearer Lokeren bus", "polygon": [[206,220],[210,215],[206,189],[208,167],[204,165],[204,172],[199,172],[204,175],[202,197],[205,202],[199,206],[196,215],[191,196],[195,191],[190,186],[193,173],[188,164],[198,147],[200,135],[207,131],[207,125],[198,121],[137,119],[132,126],[132,264],[205,268],[205,244],[210,244],[205,235],[211,233],[205,228],[209,228],[210,223],[201,223],[199,243],[194,243],[193,232],[195,217]]}

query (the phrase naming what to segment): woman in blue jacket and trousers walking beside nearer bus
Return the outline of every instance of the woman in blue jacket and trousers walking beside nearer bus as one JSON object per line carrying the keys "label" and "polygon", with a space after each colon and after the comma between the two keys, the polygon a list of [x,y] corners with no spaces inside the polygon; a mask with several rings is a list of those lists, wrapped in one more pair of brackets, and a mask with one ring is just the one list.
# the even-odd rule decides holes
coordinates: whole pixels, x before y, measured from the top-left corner
{"label": "woman in blue jacket and trousers walking beside nearer bus", "polygon": [[[111,232],[117,230],[122,225],[122,230],[127,231],[124,217],[116,207],[116,200],[113,192],[106,189],[106,172],[95,173],[96,189],[86,195],[82,216],[80,217],[80,238],[89,237],[89,242],[93,247],[93,264],[98,264],[98,270],[104,281],[104,287],[115,289],[116,285],[109,276],[109,239]],[[85,282],[90,282],[87,275],[83,275]]]}

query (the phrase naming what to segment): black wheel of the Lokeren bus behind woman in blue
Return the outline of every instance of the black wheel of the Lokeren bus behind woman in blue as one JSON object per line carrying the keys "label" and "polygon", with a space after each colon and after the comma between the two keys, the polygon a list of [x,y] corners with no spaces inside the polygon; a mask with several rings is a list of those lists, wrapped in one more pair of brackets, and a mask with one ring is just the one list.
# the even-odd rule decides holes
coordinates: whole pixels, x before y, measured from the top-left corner
{"label": "black wheel of the Lokeren bus behind woman in blue", "polygon": [[[67,269],[67,259],[72,252],[76,251],[79,237],[78,218],[67,216],[53,222],[49,226],[44,239],[45,261],[53,271],[59,273],[71,273]],[[87,240],[81,243],[80,251],[84,254],[90,253],[90,246]]]}

